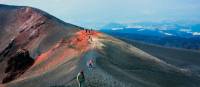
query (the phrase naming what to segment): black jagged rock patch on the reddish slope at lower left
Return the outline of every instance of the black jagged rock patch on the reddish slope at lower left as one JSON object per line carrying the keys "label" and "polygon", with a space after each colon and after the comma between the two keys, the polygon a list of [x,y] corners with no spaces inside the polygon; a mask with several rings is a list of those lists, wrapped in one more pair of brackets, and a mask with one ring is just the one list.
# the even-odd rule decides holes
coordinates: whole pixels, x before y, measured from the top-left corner
{"label": "black jagged rock patch on the reddish slope at lower left", "polygon": [[34,60],[30,57],[26,49],[19,49],[16,54],[12,55],[7,61],[5,69],[6,77],[2,83],[10,82],[22,75],[32,64]]}

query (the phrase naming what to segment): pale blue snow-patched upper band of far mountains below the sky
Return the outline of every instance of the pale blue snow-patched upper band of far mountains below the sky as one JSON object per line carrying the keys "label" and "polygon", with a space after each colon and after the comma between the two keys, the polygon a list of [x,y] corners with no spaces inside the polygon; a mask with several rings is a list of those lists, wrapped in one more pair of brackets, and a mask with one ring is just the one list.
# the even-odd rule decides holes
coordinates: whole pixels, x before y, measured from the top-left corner
{"label": "pale blue snow-patched upper band of far mountains below the sky", "polygon": [[113,30],[144,35],[152,35],[152,33],[154,33],[159,36],[179,36],[184,38],[200,36],[200,24],[183,25],[168,23],[110,23],[103,26],[101,30]]}

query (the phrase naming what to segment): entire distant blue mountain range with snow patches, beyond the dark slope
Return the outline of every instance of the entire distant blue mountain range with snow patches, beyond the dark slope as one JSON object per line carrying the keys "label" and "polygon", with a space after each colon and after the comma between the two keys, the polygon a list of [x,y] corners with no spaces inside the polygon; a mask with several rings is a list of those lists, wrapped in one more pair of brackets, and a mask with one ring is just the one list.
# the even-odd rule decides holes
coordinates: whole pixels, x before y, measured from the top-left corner
{"label": "entire distant blue mountain range with snow patches, beyond the dark slope", "polygon": [[200,24],[110,23],[100,31],[119,38],[166,47],[200,49]]}

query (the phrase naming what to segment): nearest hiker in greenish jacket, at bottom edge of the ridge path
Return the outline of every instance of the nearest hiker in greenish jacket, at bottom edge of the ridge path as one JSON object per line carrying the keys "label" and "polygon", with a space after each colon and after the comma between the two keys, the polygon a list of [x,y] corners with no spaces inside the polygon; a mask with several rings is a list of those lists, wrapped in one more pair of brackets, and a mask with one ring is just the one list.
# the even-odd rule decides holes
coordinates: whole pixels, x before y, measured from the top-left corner
{"label": "nearest hiker in greenish jacket, at bottom edge of the ridge path", "polygon": [[83,70],[78,73],[76,79],[77,79],[79,87],[84,87],[84,85],[85,85],[85,76],[84,76]]}

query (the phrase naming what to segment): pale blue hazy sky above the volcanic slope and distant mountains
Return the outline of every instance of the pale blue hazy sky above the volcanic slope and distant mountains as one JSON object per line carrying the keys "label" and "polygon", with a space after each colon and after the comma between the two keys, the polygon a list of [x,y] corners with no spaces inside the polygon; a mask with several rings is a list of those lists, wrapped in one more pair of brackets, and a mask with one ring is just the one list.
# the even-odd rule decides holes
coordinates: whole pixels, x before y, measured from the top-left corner
{"label": "pale blue hazy sky above the volcanic slope and distant mountains", "polygon": [[200,0],[0,0],[0,4],[32,6],[88,28],[111,22],[200,21]]}

